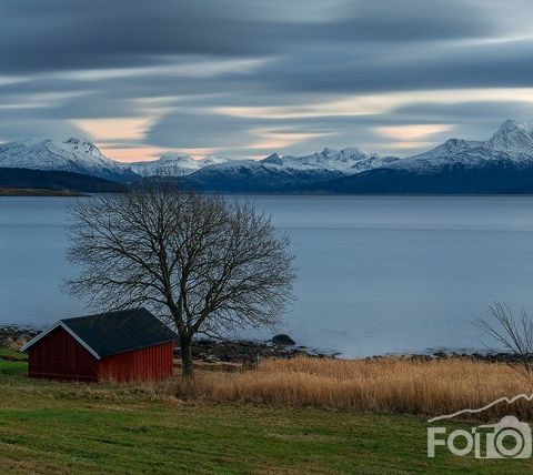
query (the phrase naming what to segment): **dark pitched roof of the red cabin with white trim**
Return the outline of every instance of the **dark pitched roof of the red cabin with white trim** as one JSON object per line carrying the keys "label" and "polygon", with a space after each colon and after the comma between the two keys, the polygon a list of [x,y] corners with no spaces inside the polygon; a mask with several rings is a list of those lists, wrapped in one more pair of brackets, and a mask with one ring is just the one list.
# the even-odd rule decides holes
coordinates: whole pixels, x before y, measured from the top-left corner
{"label": "dark pitched roof of the red cabin with white trim", "polygon": [[168,343],[178,336],[145,309],[99,313],[60,320],[28,342],[28,350],[53,329],[62,326],[94,356],[104,357]]}

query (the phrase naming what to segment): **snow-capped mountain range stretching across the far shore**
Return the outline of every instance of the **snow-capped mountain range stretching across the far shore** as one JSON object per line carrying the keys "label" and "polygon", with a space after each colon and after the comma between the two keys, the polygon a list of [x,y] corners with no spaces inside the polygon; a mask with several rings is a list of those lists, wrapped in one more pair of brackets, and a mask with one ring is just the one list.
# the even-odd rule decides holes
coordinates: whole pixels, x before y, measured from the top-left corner
{"label": "snow-capped mountain range stretching across the far shore", "polygon": [[[120,183],[164,173],[183,186],[219,192],[532,193],[533,132],[505,121],[486,141],[450,139],[414,156],[380,156],[356,148],[309,155],[235,160],[169,152],[151,162],[119,163],[93,143],[20,141],[0,144],[7,169],[68,172]],[[41,176],[46,181],[46,174]],[[6,181],[6,180],[4,180]]]}

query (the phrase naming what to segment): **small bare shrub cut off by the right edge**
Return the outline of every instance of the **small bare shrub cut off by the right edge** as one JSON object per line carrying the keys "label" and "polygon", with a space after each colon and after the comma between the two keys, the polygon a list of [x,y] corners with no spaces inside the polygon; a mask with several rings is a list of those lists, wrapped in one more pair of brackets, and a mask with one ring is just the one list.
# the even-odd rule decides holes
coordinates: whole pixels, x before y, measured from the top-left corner
{"label": "small bare shrub cut off by the right edge", "polygon": [[507,304],[501,302],[494,302],[489,307],[489,314],[493,323],[477,317],[474,324],[517,360],[517,362],[507,362],[509,366],[531,380],[533,377],[533,320],[524,309],[520,309],[519,315],[515,315]]}

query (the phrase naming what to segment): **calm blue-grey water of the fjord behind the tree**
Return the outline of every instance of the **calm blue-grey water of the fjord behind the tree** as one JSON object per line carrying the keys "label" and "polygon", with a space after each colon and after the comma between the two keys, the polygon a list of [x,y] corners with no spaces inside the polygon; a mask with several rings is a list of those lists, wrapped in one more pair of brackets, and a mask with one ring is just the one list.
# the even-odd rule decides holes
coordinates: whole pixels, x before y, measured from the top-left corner
{"label": "calm blue-grey water of the fjord behind the tree", "polygon": [[[0,323],[82,314],[62,198],[0,199]],[[253,196],[285,229],[299,344],[346,355],[482,347],[474,315],[494,300],[533,312],[533,198]],[[270,331],[243,336],[270,337]]]}

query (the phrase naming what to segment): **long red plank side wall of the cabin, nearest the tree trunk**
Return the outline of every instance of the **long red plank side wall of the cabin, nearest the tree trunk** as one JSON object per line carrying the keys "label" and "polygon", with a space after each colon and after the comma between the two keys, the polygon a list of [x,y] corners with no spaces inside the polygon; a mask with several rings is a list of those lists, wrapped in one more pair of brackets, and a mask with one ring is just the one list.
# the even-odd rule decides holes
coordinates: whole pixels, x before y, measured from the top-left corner
{"label": "long red plank side wall of the cabin, nearest the tree trunk", "polygon": [[172,375],[173,343],[150,346],[102,358],[100,381],[159,381]]}

